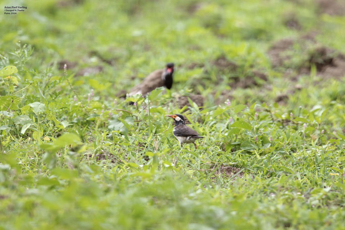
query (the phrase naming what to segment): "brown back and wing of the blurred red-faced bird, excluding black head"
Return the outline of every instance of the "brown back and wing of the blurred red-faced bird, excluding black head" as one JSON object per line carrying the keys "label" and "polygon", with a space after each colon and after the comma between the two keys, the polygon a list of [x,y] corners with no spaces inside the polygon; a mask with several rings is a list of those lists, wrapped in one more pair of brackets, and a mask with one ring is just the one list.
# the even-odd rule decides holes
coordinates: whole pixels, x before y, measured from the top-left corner
{"label": "brown back and wing of the blurred red-faced bird, excluding black head", "polygon": [[162,79],[162,74],[164,70],[156,70],[149,74],[140,84],[133,87],[128,95],[134,95],[137,93],[141,93],[142,95],[146,96],[147,93],[151,92],[152,90],[164,86],[164,81]]}

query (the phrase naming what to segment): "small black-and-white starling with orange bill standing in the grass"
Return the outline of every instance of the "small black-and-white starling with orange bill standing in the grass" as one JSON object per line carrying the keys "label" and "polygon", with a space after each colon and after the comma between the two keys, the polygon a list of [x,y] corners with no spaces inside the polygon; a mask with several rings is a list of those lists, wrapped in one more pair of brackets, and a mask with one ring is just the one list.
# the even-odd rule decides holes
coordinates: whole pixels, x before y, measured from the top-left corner
{"label": "small black-and-white starling with orange bill standing in the grass", "polygon": [[175,120],[175,127],[172,130],[172,134],[176,137],[178,142],[181,144],[181,147],[184,143],[193,143],[195,149],[197,149],[197,146],[195,144],[195,140],[199,138],[204,138],[199,136],[199,133],[197,133],[195,130],[190,128],[189,126],[185,125],[185,119],[181,114],[174,114],[174,115],[165,115],[166,117],[171,117]]}

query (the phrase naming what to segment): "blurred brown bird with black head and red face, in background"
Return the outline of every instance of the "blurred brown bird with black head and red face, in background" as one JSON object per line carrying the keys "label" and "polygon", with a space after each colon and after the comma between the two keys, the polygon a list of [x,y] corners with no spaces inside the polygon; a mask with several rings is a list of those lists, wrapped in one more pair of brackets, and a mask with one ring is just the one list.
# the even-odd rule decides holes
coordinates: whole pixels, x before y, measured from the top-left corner
{"label": "blurred brown bird with black head and red face, in background", "polygon": [[158,87],[166,87],[168,89],[172,86],[172,73],[174,73],[174,64],[168,63],[165,69],[155,70],[150,73],[140,84],[133,87],[128,95],[142,94],[146,96],[147,93]]}

